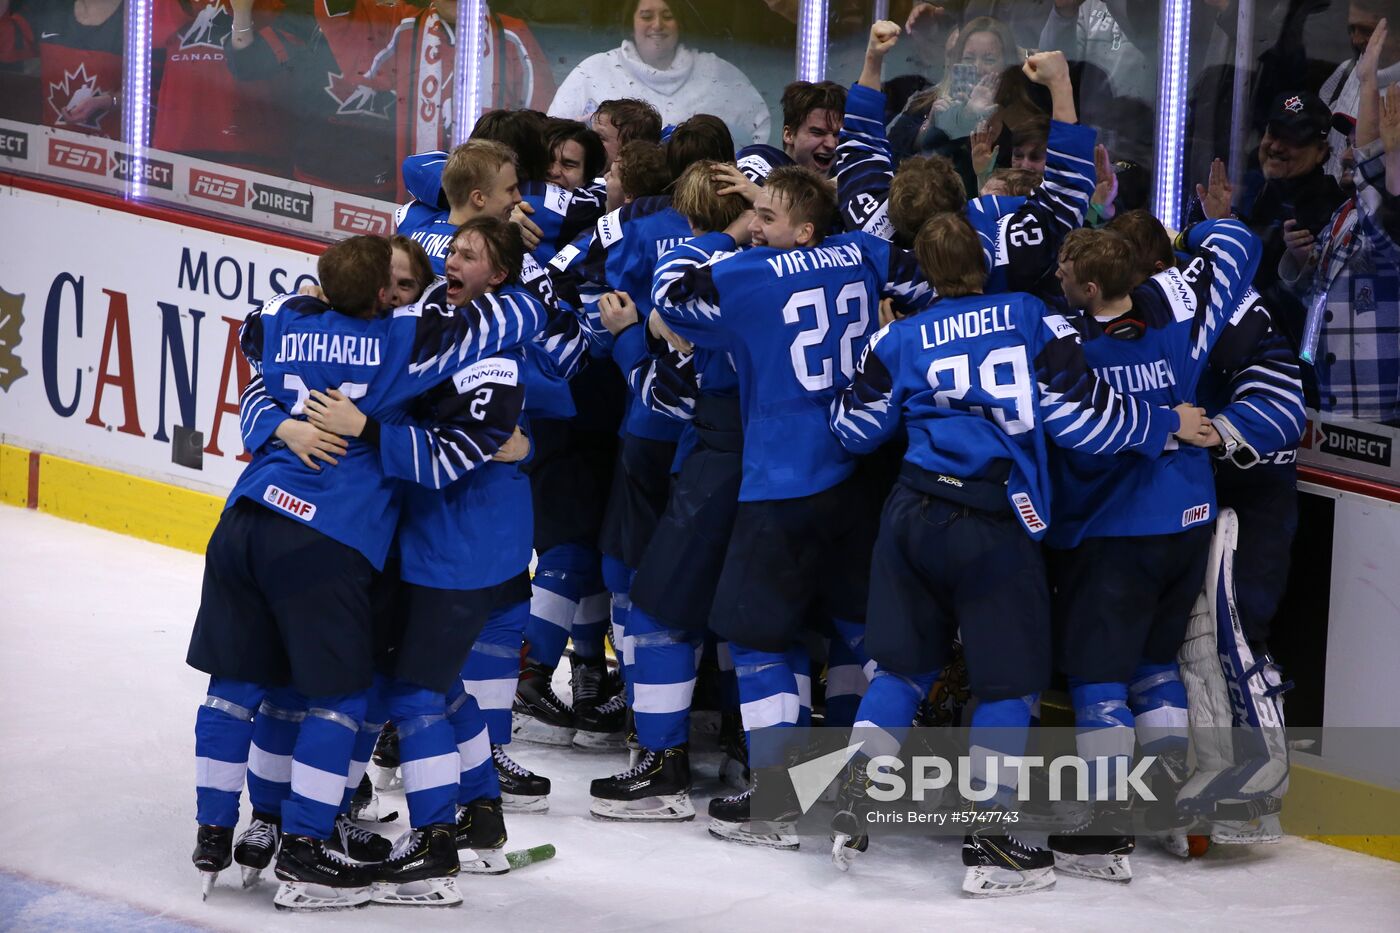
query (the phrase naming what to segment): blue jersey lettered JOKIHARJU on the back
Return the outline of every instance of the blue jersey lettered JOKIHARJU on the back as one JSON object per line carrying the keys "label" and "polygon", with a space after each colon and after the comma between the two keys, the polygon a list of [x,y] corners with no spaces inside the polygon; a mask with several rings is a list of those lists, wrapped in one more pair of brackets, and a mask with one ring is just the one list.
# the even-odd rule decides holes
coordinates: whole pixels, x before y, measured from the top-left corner
{"label": "blue jersey lettered JOKIHARJU on the back", "polygon": [[[241,345],[258,381],[248,398],[258,408],[245,410],[241,422],[248,424],[245,443],[253,459],[228,503],[259,502],[384,566],[399,495],[378,451],[351,441],[336,468],[311,471],[291,451],[266,444],[266,437],[259,443],[258,424],[269,409],[300,415],[315,388],[339,388],[370,417],[402,423],[414,398],[483,357],[522,345],[545,324],[545,308],[528,296],[511,301],[487,296],[451,308],[445,291],[434,289],[417,304],[372,319],[337,314],[301,296],[277,296],[251,312]],[[258,401],[259,391],[266,398]],[[490,455],[465,447],[461,454],[462,472]]]}

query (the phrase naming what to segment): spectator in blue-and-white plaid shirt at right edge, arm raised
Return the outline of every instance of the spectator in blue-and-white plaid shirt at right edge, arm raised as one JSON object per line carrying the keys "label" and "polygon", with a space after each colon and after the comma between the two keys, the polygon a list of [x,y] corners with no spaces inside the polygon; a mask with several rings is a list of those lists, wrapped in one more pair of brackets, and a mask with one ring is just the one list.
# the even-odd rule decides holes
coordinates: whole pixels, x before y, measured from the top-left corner
{"label": "spectator in blue-and-white plaid shirt at right edge, arm raised", "polygon": [[1400,88],[1379,94],[1386,32],[1382,20],[1357,62],[1357,191],[1322,235],[1289,230],[1278,280],[1320,325],[1317,408],[1400,426]]}

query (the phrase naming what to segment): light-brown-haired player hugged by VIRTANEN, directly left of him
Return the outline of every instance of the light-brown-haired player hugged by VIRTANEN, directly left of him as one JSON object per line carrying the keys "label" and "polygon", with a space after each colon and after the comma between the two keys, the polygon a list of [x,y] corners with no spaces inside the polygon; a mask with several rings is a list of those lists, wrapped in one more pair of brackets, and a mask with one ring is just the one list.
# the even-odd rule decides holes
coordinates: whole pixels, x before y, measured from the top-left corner
{"label": "light-brown-haired player hugged by VIRTANEN, directly left of him", "polygon": [[[619,256],[620,268],[645,263],[651,269],[666,240],[679,242],[690,234],[724,230],[743,214],[746,202],[741,196],[718,193],[714,165],[694,163],[678,179],[664,210],[638,214],[627,234],[637,244],[631,249],[636,258],[623,262]],[[645,199],[637,202],[643,203]],[[648,217],[655,220],[648,223]],[[683,230],[673,226],[676,219]],[[665,233],[679,237],[658,237]],[[665,249],[662,255],[669,252]],[[636,284],[647,289],[650,300],[651,282]],[[613,305],[609,317],[615,312],[620,325],[629,314],[637,321],[617,328],[616,345],[627,353],[633,342],[644,345],[648,338],[637,304],[630,297],[622,300],[622,294],[605,296],[601,304]],[[643,307],[647,305],[650,301]],[[643,353],[637,349],[634,366],[627,367],[634,408],[645,406],[652,417],[689,424],[678,444],[678,475],[645,549],[636,552],[636,574],[630,581],[624,644],[631,646],[629,675],[641,755],[633,768],[592,782],[589,811],[603,820],[682,821],[694,818],[687,744],[697,650],[710,621],[739,499],[738,384],[722,350],[696,347],[689,360],[668,353],[671,359],[655,360],[654,367],[641,359]]]}

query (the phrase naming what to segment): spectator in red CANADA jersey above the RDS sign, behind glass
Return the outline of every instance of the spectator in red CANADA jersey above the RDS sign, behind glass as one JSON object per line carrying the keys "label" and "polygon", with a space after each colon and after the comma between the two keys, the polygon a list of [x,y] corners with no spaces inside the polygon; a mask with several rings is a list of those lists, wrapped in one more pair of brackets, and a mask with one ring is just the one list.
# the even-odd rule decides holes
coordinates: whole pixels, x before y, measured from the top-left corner
{"label": "spectator in red CANADA jersey above the RDS sign, behind glass", "polygon": [[[248,4],[241,4],[246,7]],[[269,25],[280,0],[255,0],[252,25]],[[276,80],[238,81],[228,70],[234,32],[228,0],[155,0],[157,74],[151,144],[225,165],[291,175],[291,113]]]}

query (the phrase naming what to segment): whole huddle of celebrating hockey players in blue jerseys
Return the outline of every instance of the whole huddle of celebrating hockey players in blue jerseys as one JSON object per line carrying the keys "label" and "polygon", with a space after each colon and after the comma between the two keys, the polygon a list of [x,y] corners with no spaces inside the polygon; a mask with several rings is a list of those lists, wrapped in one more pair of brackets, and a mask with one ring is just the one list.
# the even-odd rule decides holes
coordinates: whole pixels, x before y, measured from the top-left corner
{"label": "whole huddle of celebrating hockey players in blue jerseys", "polygon": [[[206,894],[238,862],[274,864],[283,908],[459,904],[459,871],[511,866],[504,813],[549,806],[512,737],[631,748],[591,813],[693,820],[701,705],[741,783],[710,832],[797,848],[799,814],[753,813],[791,749],[748,737],[811,724],[815,686],[825,726],[881,737],[839,780],[844,869],[871,758],[955,665],[993,758],[1064,675],[1100,779],[1156,758],[1170,848],[1277,839],[1287,755],[1189,756],[1211,717],[1281,726],[1278,594],[1232,576],[1274,556],[1252,516],[1303,427],[1259,240],[1086,228],[1106,160],[1058,52],[1023,67],[1043,175],[969,199],[946,158],[895,165],[897,35],[872,27],[848,91],[790,85],[781,148],[633,99],[490,112],[405,161],[398,235],[329,247],[319,290],[248,315],[252,462],[188,656]],[[392,843],[357,822],[371,759],[407,801]],[[1016,773],[967,806],[1009,807]],[[1128,808],[1040,839],[979,822],[965,892],[1130,880]]]}

